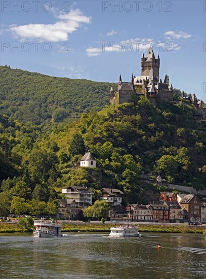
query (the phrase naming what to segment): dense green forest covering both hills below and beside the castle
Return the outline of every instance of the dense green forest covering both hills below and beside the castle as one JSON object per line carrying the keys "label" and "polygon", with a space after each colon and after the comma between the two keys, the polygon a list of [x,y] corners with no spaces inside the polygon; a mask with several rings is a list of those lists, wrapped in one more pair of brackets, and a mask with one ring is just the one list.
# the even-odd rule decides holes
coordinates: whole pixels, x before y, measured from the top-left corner
{"label": "dense green forest covering both hills below and beside the castle", "polygon": [[[145,191],[160,188],[142,187],[145,173],[205,189],[205,119],[188,101],[153,107],[140,97],[115,108],[108,83],[7,66],[1,75],[0,210],[54,214],[69,185],[89,186],[94,201],[101,188],[118,188],[125,204],[150,202]],[[88,149],[97,168],[79,167]]]}

